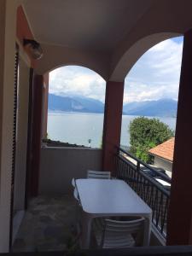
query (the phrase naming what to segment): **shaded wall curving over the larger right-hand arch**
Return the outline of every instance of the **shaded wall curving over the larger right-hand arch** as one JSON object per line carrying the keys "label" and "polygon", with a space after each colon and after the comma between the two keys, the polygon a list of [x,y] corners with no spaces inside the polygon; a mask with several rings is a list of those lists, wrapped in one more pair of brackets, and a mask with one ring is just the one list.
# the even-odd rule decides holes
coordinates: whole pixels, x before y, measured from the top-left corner
{"label": "shaded wall curving over the larger right-hand arch", "polygon": [[[173,8],[174,6],[174,8]],[[123,81],[138,58],[154,44],[183,35],[192,27],[191,1],[154,1],[113,50],[109,80]]]}

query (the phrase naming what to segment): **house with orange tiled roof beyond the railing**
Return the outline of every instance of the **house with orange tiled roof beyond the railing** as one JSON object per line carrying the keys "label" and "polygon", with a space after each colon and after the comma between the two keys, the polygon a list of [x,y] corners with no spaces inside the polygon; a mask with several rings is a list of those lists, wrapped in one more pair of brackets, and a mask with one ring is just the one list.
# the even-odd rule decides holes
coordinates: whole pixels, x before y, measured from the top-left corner
{"label": "house with orange tiled roof beyond the railing", "polygon": [[151,148],[148,153],[154,156],[154,166],[166,170],[167,175],[172,177],[172,162],[175,138],[167,140],[165,143]]}

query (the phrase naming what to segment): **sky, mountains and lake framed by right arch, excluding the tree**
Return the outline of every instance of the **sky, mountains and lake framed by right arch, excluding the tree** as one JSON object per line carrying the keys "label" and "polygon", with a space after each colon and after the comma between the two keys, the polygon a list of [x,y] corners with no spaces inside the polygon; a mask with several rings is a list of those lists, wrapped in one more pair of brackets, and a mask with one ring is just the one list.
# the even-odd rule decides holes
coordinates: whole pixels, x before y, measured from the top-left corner
{"label": "sky, mountains and lake framed by right arch, excluding the tree", "polygon": [[142,55],[125,78],[121,145],[130,147],[127,131],[137,116],[158,118],[175,130],[183,37],[167,39]]}

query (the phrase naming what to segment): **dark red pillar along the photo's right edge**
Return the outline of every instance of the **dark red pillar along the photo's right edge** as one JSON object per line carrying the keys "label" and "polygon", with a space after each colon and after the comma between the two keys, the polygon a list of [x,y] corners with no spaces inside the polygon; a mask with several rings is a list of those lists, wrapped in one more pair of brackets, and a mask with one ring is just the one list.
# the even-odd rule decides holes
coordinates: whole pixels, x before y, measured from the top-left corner
{"label": "dark red pillar along the photo's right edge", "polygon": [[167,245],[192,244],[192,30],[184,34]]}

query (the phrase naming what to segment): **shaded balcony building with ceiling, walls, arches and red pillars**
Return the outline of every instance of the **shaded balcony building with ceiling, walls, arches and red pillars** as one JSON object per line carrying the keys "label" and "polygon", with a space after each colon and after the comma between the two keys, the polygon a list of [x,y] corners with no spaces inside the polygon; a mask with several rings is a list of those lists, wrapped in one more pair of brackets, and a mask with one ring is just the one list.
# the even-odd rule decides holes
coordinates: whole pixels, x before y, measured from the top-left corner
{"label": "shaded balcony building with ceiling, walls, arches and red pillars", "polygon": [[[165,214],[156,213],[167,216],[166,245],[192,244],[191,9],[191,0],[0,1],[0,253],[11,251],[15,217],[21,221],[32,197],[70,192],[71,178],[90,168],[116,174],[125,76],[154,44],[180,35],[172,189],[163,194]],[[100,150],[41,147],[49,72],[65,65],[88,67],[106,81]]]}

